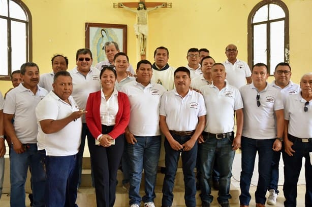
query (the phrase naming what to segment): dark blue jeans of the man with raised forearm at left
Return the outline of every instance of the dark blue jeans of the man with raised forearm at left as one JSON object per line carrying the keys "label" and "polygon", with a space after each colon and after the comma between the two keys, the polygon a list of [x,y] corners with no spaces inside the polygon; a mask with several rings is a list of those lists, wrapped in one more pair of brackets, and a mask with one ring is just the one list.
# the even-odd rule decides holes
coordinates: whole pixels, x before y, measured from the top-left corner
{"label": "dark blue jeans of the man with raised forearm at left", "polygon": [[77,155],[46,156],[45,203],[47,207],[75,207],[77,199]]}

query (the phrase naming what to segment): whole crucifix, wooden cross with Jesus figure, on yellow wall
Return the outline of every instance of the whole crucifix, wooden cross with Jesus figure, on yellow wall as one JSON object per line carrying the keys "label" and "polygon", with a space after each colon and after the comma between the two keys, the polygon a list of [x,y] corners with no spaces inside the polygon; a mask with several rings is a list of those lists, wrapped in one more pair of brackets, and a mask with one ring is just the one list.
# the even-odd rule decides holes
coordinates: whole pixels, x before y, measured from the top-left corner
{"label": "whole crucifix, wooden cross with Jesus figure, on yellow wall", "polygon": [[[164,2],[145,2],[144,0],[140,2],[128,2],[128,3],[114,3],[114,8],[123,8],[127,11],[136,13],[137,24],[134,25],[135,33],[137,38],[140,40],[140,54],[141,59],[145,59],[145,48],[146,39],[148,35],[148,25],[147,25],[147,14],[150,11],[159,8],[172,8],[172,3]],[[132,9],[137,8],[137,9]]]}

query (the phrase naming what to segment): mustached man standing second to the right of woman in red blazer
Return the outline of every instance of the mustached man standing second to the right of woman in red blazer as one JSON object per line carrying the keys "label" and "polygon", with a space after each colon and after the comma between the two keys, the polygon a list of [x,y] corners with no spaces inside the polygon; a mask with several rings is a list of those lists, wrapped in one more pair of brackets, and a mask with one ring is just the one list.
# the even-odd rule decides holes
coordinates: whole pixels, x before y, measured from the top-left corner
{"label": "mustached man standing second to the right of woman in red blazer", "polygon": [[175,89],[165,93],[160,105],[160,128],[165,135],[166,174],[163,184],[162,206],[171,206],[177,164],[181,153],[185,186],[185,205],[196,206],[194,168],[197,157],[197,139],[206,122],[203,96],[190,90],[190,70],[178,67],[174,71]]}

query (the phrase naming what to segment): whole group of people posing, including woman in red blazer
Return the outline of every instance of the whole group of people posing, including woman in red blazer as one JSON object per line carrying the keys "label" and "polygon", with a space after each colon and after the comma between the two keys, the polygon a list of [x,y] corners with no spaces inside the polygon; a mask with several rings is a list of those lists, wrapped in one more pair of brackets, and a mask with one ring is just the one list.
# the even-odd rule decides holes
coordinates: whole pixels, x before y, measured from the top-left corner
{"label": "whole group of people posing, including woman in red blazer", "polygon": [[92,67],[91,51],[79,49],[77,66],[69,72],[63,55],[53,56],[53,71],[42,75],[36,63],[24,63],[20,84],[5,99],[0,97],[0,137],[6,135],[12,143],[11,206],[25,206],[28,167],[33,206],[77,206],[86,137],[97,206],[114,205],[121,162],[130,206],[139,207],[143,201],[144,207],[154,207],[162,146],[166,165],[162,206],[172,205],[180,156],[185,205],[196,206],[197,168],[202,206],[210,206],[213,200],[211,180],[217,182],[219,204],[230,206],[232,163],[239,148],[241,207],[251,200],[257,152],[256,206],[265,206],[267,191],[267,202],[276,204],[281,151],[285,206],[296,206],[302,157],[306,159],[305,205],[312,206],[308,176],[312,173],[312,73],[304,74],[299,86],[290,81],[290,65],[279,63],[269,84],[267,66],[257,63],[249,69],[237,59],[233,44],[226,47],[224,63],[215,63],[207,49],[191,48],[188,64],[176,69],[168,64],[168,49],[158,47],[154,63],[141,60],[135,71],[115,42],[106,43],[103,50],[108,61]]}

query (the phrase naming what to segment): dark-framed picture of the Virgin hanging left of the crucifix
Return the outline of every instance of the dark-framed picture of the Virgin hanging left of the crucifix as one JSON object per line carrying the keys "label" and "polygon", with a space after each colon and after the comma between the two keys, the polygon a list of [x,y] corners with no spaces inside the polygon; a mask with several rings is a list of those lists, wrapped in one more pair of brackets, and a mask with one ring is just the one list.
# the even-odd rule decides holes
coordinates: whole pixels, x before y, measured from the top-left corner
{"label": "dark-framed picture of the Virgin hanging left of the crucifix", "polygon": [[108,41],[116,42],[119,51],[127,54],[127,25],[85,23],[85,47],[92,52],[93,64],[107,59],[103,46]]}

